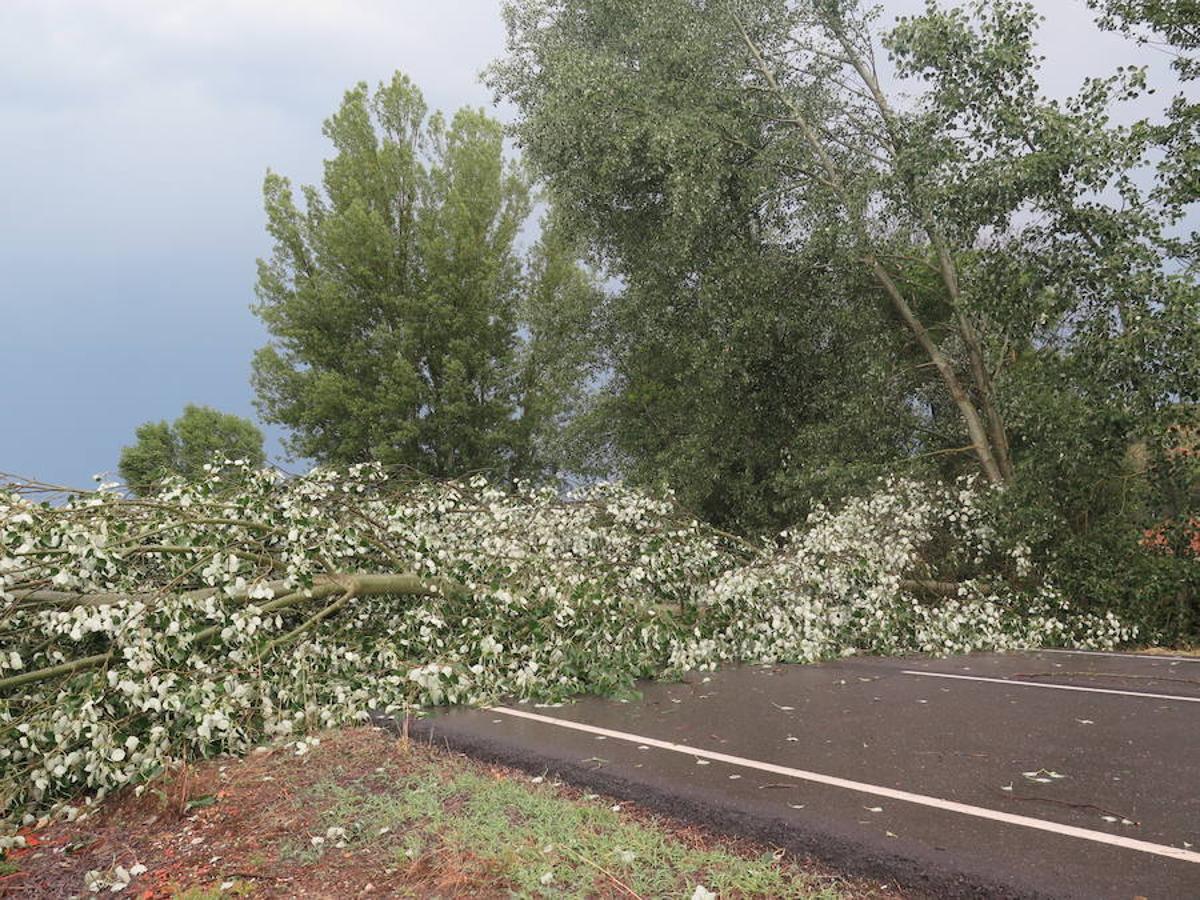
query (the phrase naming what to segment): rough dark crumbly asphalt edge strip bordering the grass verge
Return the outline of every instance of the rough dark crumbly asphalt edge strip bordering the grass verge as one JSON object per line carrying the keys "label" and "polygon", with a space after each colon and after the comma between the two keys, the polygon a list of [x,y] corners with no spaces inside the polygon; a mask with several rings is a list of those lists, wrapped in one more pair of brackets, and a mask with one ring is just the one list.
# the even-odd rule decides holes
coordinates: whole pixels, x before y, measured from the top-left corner
{"label": "rough dark crumbly asphalt edge strip bordering the grass verge", "polygon": [[[482,710],[479,712],[482,714]],[[750,838],[781,847],[798,857],[812,858],[838,874],[890,881],[918,898],[1044,900],[1054,896],[1032,884],[1014,884],[1010,876],[1006,878],[977,866],[958,866],[952,857],[896,853],[868,836],[853,839],[822,827],[820,822],[798,822],[751,810],[732,798],[688,785],[666,788],[614,769],[596,767],[590,761],[556,755],[548,748],[517,744],[488,737],[470,727],[456,727],[445,722],[444,716],[412,716],[404,720],[377,715],[374,722],[397,734],[439,744],[476,760],[509,766],[532,775],[551,774],[576,787],[636,803],[719,834]]]}

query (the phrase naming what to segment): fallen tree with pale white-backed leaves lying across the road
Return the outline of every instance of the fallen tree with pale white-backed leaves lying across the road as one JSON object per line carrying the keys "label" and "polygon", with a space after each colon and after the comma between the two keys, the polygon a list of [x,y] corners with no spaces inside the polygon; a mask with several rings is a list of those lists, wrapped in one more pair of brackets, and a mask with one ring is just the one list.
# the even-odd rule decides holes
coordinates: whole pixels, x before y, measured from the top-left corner
{"label": "fallen tree with pale white-backed leaves lying across the road", "polygon": [[881,482],[763,544],[618,485],[563,497],[373,466],[44,492],[0,492],[0,848],[80,792],[264,739],[304,752],[370,710],[1134,637],[1039,583],[970,484]]}

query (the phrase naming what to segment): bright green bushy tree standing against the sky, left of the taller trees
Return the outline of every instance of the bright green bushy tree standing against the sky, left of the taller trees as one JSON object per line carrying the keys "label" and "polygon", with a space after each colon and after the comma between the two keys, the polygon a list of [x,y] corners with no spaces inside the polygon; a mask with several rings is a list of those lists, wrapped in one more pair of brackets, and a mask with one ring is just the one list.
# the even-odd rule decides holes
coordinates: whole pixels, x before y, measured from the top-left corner
{"label": "bright green bushy tree standing against the sky, left of the taller trees", "polygon": [[430,115],[397,73],[347,91],[324,133],[335,155],[320,188],[298,204],[286,178],[264,185],[275,239],[257,287],[272,337],[253,364],[264,418],[323,462],[542,472],[539,440],[588,360],[534,377],[546,353],[568,350],[545,346],[533,307],[580,310],[595,288],[562,242],[520,252],[530,190],[500,125],[479,109],[449,124]]}

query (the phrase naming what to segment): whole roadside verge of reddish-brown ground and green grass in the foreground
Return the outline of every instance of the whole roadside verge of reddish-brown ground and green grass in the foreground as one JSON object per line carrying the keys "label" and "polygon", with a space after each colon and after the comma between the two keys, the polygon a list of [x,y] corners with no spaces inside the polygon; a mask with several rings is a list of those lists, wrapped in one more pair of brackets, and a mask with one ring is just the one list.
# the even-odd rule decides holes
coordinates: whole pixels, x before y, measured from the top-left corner
{"label": "whole roadside verge of reddish-brown ground and green grass in the foreground", "polygon": [[132,871],[124,893],[146,900],[898,896],[374,728],[329,733],[304,756],[181,767],[26,836],[0,864],[0,894],[70,896],[89,871]]}

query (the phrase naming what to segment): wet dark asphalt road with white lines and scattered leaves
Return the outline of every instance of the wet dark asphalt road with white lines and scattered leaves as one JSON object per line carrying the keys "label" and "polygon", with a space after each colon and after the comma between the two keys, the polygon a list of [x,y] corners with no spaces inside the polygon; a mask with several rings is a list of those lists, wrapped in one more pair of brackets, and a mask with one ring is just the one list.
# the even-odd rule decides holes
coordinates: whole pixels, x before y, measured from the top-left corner
{"label": "wet dark asphalt road with white lines and scattered leaves", "polygon": [[739,667],[410,732],[930,896],[1200,898],[1200,659]]}

